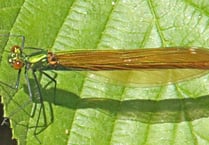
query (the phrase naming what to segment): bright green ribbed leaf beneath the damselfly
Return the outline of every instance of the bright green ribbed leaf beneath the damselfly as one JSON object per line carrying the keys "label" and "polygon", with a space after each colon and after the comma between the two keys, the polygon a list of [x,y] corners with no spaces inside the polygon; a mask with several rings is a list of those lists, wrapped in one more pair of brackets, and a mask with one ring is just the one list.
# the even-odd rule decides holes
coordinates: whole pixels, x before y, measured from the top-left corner
{"label": "bright green ribbed leaf beneath the damselfly", "polygon": [[[204,0],[2,0],[0,33],[24,35],[25,46],[50,51],[208,48],[208,5]],[[46,71],[57,81],[56,95],[54,83],[36,72],[45,107],[39,117],[32,72],[33,103],[24,70],[18,90],[8,86],[15,86],[17,71],[7,55],[22,39],[1,40],[0,91],[20,145],[209,144],[207,71]],[[40,127],[43,110],[47,126]]]}

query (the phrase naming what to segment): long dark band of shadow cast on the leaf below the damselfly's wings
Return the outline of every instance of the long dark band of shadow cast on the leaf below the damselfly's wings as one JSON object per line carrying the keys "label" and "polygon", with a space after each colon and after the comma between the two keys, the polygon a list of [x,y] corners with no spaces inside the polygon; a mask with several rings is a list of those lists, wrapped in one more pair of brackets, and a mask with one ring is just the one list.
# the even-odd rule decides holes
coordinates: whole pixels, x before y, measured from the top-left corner
{"label": "long dark band of shadow cast on the leaf below the damselfly's wings", "polygon": [[[52,102],[53,90],[45,90],[44,101]],[[50,95],[49,95],[50,93]],[[66,90],[57,89],[55,105],[69,109],[99,109],[117,119],[143,123],[178,123],[209,117],[209,95],[198,98],[165,100],[113,100],[107,98],[80,98]],[[56,117],[56,116],[55,116]]]}

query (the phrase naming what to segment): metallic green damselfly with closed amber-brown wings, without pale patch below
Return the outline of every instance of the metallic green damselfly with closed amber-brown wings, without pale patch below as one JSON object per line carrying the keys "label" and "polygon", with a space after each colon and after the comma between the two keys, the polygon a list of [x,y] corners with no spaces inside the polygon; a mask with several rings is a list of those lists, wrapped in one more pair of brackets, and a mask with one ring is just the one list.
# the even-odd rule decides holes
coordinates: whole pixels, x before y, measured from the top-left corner
{"label": "metallic green damselfly with closed amber-brown wings, without pale patch below", "polygon": [[[18,71],[16,88],[19,86],[22,68],[25,69],[25,78],[29,96],[32,100],[31,83],[28,71],[31,70],[40,102],[43,105],[43,97],[38,82],[36,71],[39,71],[55,83],[56,80],[47,74],[48,70],[69,71],[127,71],[127,70],[152,70],[152,69],[198,69],[199,72],[209,69],[209,50],[203,48],[152,48],[135,50],[80,50],[51,52],[41,48],[25,47],[25,37],[22,45],[11,47],[8,62],[12,68]],[[27,54],[24,50],[32,50]],[[120,77],[120,76],[119,76]],[[172,81],[171,81],[172,82]]]}

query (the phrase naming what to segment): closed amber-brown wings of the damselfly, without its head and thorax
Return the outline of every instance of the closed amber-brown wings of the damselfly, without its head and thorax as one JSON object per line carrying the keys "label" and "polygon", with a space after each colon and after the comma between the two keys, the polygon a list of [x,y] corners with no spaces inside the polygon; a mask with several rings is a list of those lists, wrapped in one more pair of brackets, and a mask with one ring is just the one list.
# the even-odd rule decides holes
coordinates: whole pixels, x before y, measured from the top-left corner
{"label": "closed amber-brown wings of the damselfly, without its head and thorax", "polygon": [[209,50],[154,48],[55,53],[59,65],[77,70],[209,69]]}

